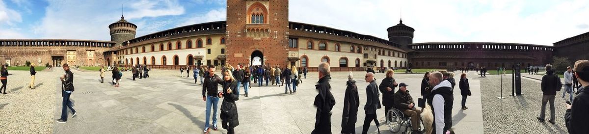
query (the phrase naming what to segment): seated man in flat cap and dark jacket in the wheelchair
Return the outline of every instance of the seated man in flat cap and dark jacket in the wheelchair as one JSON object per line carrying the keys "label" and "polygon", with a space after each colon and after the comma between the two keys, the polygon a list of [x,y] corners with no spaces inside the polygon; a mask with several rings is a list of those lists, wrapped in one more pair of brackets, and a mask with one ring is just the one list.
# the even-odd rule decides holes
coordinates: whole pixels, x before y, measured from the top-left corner
{"label": "seated man in flat cap and dark jacket in the wheelchair", "polygon": [[399,84],[399,91],[393,96],[395,108],[401,110],[404,115],[411,117],[412,133],[421,133],[418,128],[419,123],[421,123],[419,122],[421,110],[415,108],[415,103],[413,103],[413,98],[407,91],[407,86],[405,83]]}

